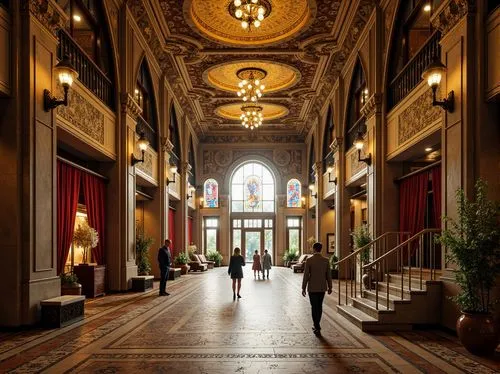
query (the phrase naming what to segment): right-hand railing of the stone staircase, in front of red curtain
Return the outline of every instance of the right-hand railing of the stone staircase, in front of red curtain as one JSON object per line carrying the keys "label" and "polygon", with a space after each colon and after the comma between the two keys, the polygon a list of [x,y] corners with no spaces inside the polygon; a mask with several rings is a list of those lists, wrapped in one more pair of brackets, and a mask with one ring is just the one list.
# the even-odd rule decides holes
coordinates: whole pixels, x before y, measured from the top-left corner
{"label": "right-hand railing of the stone staircase, in front of red curtain", "polygon": [[[419,233],[413,235],[411,238],[398,244],[396,247],[387,251],[379,257],[374,257],[375,260],[363,266],[363,270],[368,274],[368,285],[370,288],[374,286],[375,288],[375,308],[379,308],[379,278],[382,275],[382,279],[385,277],[386,281],[386,309],[389,309],[389,280],[390,274],[400,273],[401,276],[401,300],[404,296],[404,269],[405,266],[408,268],[408,290],[412,290],[412,268],[419,272],[420,280],[420,290],[423,290],[423,266],[424,266],[424,256],[425,252],[428,252],[429,257],[427,258],[430,268],[430,280],[436,280],[436,246],[437,243],[436,236],[441,233],[440,229],[425,229]],[[395,257],[395,259],[394,259]],[[391,264],[392,261],[392,264]],[[394,263],[395,268],[394,268]]]}

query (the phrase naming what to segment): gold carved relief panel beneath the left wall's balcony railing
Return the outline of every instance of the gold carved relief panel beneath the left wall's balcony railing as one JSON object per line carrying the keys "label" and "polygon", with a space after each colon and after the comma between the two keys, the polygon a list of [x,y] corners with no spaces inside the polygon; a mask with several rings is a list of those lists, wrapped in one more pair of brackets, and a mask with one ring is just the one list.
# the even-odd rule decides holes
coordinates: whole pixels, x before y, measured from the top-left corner
{"label": "gold carved relief panel beneath the left wall's balcony railing", "polygon": [[[57,91],[61,96],[63,95],[59,84],[57,84]],[[68,100],[71,104],[58,106],[57,115],[99,144],[104,145],[104,114],[85,99],[77,89],[69,91]]]}

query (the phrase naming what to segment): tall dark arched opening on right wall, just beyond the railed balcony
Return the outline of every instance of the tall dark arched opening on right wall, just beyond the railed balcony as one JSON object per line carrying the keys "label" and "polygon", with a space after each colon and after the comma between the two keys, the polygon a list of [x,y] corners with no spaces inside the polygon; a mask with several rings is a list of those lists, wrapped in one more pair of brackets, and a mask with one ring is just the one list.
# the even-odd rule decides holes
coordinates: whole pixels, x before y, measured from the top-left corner
{"label": "tall dark arched opening on right wall, just beyond the railed balcony", "polygon": [[358,59],[352,73],[349,99],[347,101],[346,149],[354,145],[358,133],[366,133],[365,118],[361,114],[361,107],[365,105],[367,95],[365,73],[361,61]]}

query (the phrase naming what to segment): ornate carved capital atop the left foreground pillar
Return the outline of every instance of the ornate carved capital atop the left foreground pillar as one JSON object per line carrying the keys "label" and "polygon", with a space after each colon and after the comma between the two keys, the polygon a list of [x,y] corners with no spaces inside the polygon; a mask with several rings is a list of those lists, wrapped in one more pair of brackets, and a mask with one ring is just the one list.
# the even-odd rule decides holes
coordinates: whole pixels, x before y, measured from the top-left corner
{"label": "ornate carved capital atop the left foreground pillar", "polygon": [[33,15],[56,38],[57,32],[68,21],[68,16],[55,0],[23,0],[21,11]]}

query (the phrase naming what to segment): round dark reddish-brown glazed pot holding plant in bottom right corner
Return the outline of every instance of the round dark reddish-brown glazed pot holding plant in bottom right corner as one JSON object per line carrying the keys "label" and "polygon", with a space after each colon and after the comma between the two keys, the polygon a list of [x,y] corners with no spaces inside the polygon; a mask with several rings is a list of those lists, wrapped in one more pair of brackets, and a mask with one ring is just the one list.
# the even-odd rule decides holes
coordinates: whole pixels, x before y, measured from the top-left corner
{"label": "round dark reddish-brown glazed pot holding plant in bottom right corner", "polygon": [[462,312],[457,334],[465,349],[475,355],[491,355],[498,345],[498,328],[491,314]]}

